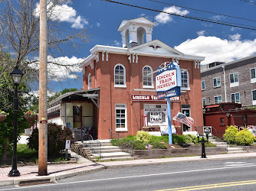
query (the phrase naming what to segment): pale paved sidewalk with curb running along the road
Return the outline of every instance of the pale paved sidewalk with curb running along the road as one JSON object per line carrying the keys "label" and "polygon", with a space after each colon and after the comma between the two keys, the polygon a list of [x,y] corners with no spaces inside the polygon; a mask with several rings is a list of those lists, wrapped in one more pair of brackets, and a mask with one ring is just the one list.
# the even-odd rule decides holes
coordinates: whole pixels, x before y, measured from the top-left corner
{"label": "pale paved sidewalk with curb running along the road", "polygon": [[[18,167],[21,176],[8,177],[11,167],[0,168],[0,186],[18,184],[28,180],[60,180],[71,176],[87,173],[93,170],[100,170],[110,167],[131,167],[137,165],[152,165],[159,163],[175,163],[184,161],[199,161],[199,160],[223,160],[235,158],[256,157],[256,153],[244,154],[218,154],[208,155],[207,158],[196,157],[172,157],[159,159],[141,159],[141,160],[124,160],[94,163],[88,160],[83,160],[84,163],[68,163],[68,164],[49,164],[48,176],[38,176],[38,166]],[[81,161],[81,162],[83,162]]]}

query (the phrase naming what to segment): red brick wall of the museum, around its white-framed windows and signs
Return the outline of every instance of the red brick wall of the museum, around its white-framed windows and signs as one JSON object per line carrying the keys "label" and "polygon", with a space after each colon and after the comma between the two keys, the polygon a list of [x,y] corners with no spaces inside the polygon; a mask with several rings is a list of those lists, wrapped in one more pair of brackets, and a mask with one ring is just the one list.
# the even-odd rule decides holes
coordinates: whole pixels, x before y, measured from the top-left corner
{"label": "red brick wall of the museum, around its white-framed windows and signs", "polygon": [[[122,136],[129,134],[136,134],[136,131],[141,130],[141,116],[143,115],[144,104],[165,104],[166,102],[132,102],[130,100],[131,94],[148,94],[156,95],[156,92],[147,91],[133,91],[132,89],[143,89],[143,66],[149,65],[153,71],[157,70],[158,66],[164,62],[172,61],[168,58],[159,57],[145,57],[139,56],[138,63],[129,63],[127,55],[109,53],[109,60],[102,61],[101,53],[99,55],[100,60],[94,63],[94,69],[96,66],[97,86],[94,83],[94,69],[91,70],[90,66],[87,66],[87,75],[92,75],[92,88],[100,87],[100,109],[98,125],[98,138],[109,138],[108,129],[115,131],[115,104],[126,104],[127,115],[127,128],[128,131],[118,132]],[[95,62],[95,61],[94,61]],[[125,66],[126,69],[126,88],[114,87],[114,66],[117,63]],[[191,105],[191,117],[195,120],[195,126],[203,125],[202,117],[202,91],[201,91],[201,79],[200,70],[195,69],[193,61],[179,60],[181,68],[189,69],[189,87],[190,91],[182,93],[182,102],[175,102],[172,104],[172,116],[177,112],[181,112],[181,105]],[[154,86],[155,86],[154,75]],[[87,77],[84,77],[87,81]],[[87,89],[87,83],[84,82],[84,89]],[[188,96],[187,96],[188,95]],[[173,124],[173,121],[172,121]],[[176,125],[179,125],[179,123]],[[192,128],[194,131],[194,128]]]}

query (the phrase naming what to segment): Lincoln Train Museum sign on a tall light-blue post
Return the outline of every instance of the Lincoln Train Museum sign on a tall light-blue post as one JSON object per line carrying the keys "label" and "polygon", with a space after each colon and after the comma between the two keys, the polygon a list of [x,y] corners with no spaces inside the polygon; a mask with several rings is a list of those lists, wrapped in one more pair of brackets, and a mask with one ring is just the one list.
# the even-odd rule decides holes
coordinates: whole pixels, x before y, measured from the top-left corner
{"label": "Lincoln Train Museum sign on a tall light-blue post", "polygon": [[[162,66],[163,65],[163,66]],[[182,72],[177,63],[163,63],[156,72],[157,99],[167,99],[169,144],[172,144],[171,97],[180,95]]]}

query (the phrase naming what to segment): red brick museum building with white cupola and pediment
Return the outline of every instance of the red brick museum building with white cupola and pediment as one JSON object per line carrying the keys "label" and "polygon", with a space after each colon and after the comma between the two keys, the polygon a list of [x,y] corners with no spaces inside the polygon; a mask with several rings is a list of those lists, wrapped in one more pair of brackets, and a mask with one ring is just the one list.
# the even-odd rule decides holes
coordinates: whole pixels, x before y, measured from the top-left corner
{"label": "red brick museum building with white cupola and pediment", "polygon": [[98,139],[110,138],[109,129],[126,136],[168,125],[166,100],[156,99],[153,73],[165,62],[179,63],[183,69],[182,95],[171,104],[172,116],[183,112],[195,120],[192,128],[172,122],[177,133],[203,125],[200,62],[204,57],[185,55],[152,40],[154,25],[146,18],[122,21],[118,31],[123,47],[96,45],[80,65],[84,91],[98,91],[99,105],[91,112]]}

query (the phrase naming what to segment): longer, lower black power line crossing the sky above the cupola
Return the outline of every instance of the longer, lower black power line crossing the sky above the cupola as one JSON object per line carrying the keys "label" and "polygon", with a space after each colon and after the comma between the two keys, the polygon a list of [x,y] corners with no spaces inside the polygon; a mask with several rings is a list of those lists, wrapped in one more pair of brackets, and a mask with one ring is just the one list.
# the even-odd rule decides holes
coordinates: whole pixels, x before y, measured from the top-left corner
{"label": "longer, lower black power line crossing the sky above the cupola", "polygon": [[[244,28],[244,29],[256,31],[256,27],[254,27],[254,26],[249,26],[251,28],[248,28],[248,27],[238,26],[238,25],[235,25],[235,24],[232,24],[232,23],[228,24],[228,22],[224,22],[224,21],[220,22],[220,21],[206,19],[206,18],[197,18],[197,17],[187,16],[187,15],[180,15],[180,14],[176,14],[176,13],[169,13],[169,12],[166,12],[166,11],[159,11],[159,10],[156,10],[156,9],[153,9],[153,8],[144,8],[144,7],[140,7],[140,6],[137,6],[137,5],[130,5],[130,4],[126,4],[126,3],[123,3],[123,2],[114,2],[114,1],[111,1],[111,0],[100,0],[100,1],[112,2],[112,3],[116,3],[116,4],[120,4],[120,5],[126,5],[126,6],[130,6],[130,7],[134,7],[134,8],[141,8],[141,9],[145,9],[145,10],[148,10],[148,11],[162,12],[162,13],[166,13],[166,14],[169,14],[169,15],[179,16],[179,17],[182,17],[182,18],[191,18],[191,19],[194,19],[194,20],[197,20],[197,21],[205,21],[205,22],[210,22],[210,23],[214,23],[214,24],[222,24],[222,25],[226,25],[226,26],[230,26],[230,27]],[[245,25],[245,24],[240,24],[240,25]],[[245,25],[245,26],[248,26],[248,25]]]}

